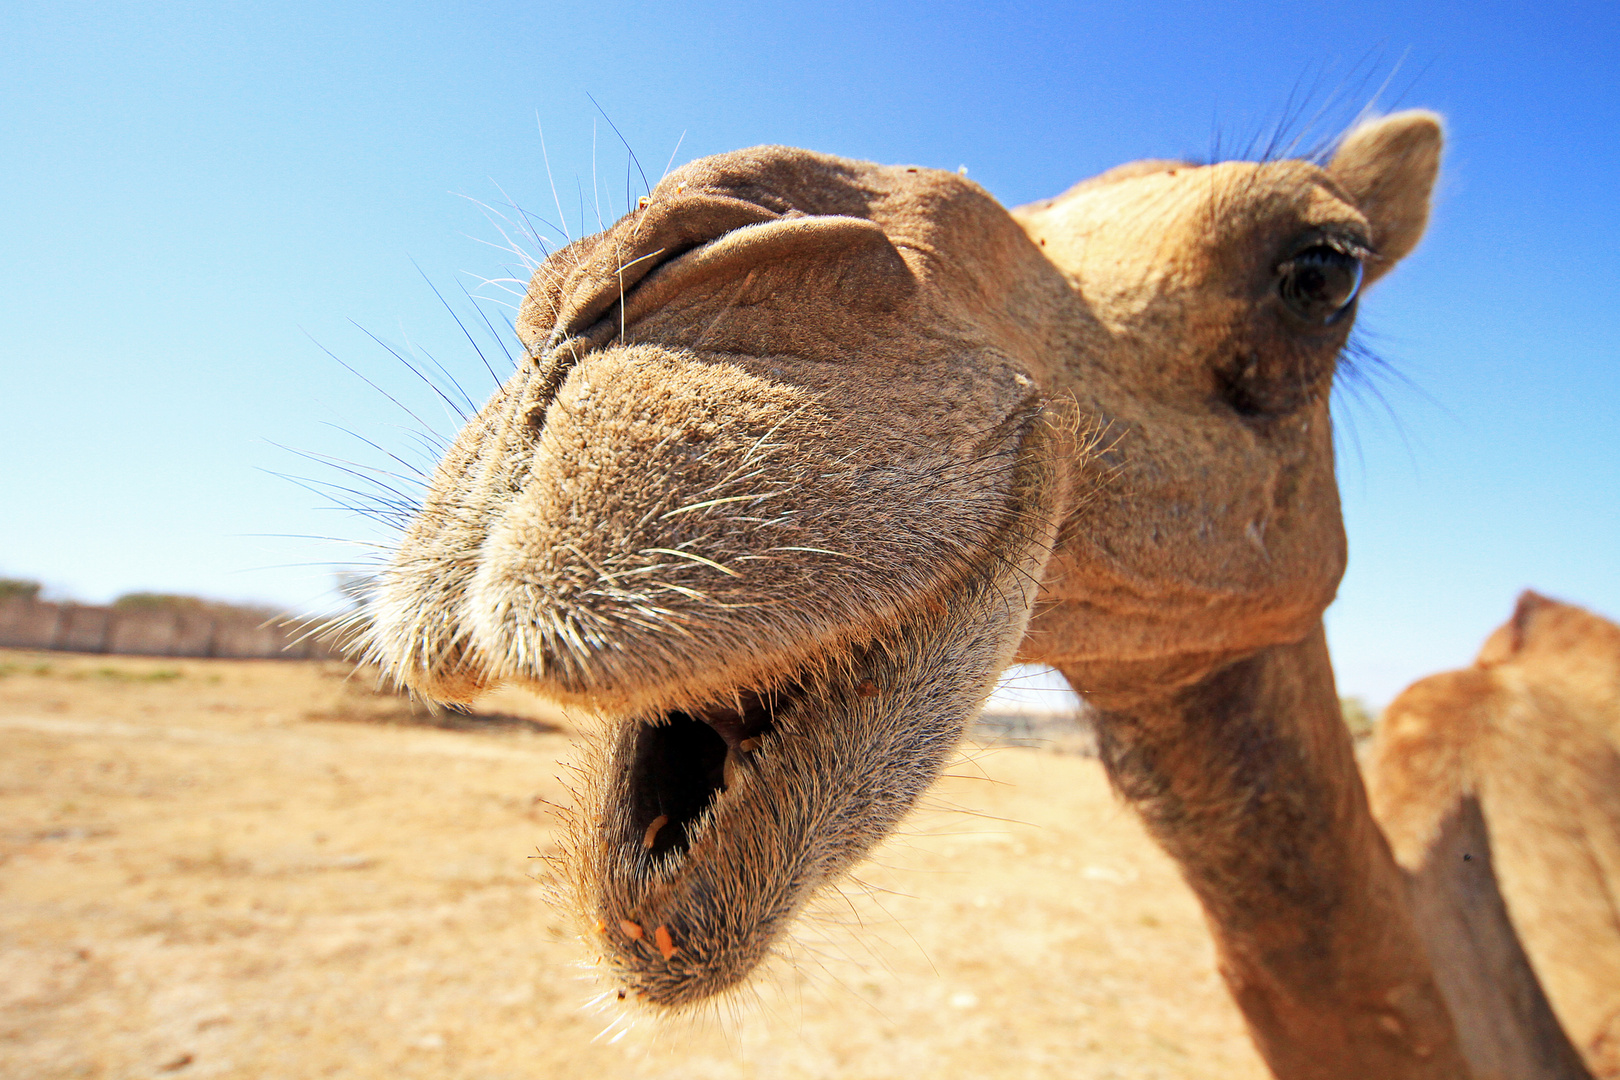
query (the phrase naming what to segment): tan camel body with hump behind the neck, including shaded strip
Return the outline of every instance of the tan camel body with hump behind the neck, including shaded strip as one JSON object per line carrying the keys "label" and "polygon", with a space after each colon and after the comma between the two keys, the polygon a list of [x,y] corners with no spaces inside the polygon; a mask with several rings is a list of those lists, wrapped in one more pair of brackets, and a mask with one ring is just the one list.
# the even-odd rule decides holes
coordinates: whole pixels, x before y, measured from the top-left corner
{"label": "tan camel body with hump behind the neck, including shaded strip", "polygon": [[1620,1078],[1620,627],[1524,593],[1390,704],[1367,785],[1476,1074]]}

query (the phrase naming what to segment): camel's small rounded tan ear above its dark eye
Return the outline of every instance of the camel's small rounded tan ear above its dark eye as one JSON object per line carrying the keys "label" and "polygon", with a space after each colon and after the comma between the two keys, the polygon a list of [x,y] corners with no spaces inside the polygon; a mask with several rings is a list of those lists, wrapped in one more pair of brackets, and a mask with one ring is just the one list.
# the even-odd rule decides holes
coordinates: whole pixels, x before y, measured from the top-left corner
{"label": "camel's small rounded tan ear above its dark eye", "polygon": [[1429,196],[1440,172],[1440,117],[1422,108],[1369,120],[1345,136],[1327,173],[1372,225],[1377,257],[1367,280],[1405,259],[1429,223]]}

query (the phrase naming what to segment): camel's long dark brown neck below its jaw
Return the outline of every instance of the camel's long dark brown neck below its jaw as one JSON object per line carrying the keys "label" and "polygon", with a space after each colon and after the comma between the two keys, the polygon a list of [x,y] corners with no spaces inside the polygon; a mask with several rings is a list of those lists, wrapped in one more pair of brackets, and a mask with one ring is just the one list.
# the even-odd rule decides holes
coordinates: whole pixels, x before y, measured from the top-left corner
{"label": "camel's long dark brown neck below its jaw", "polygon": [[1320,623],[1162,698],[1103,701],[1115,789],[1181,865],[1277,1077],[1466,1077],[1338,714]]}

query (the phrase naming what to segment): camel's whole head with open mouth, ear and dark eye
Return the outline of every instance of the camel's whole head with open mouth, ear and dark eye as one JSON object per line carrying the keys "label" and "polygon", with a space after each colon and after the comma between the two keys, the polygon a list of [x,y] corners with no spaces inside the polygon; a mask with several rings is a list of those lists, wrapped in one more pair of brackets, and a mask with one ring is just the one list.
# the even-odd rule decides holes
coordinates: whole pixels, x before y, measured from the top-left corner
{"label": "camel's whole head with open mouth, ear and dark eye", "polygon": [[687,165],[536,270],[373,651],[609,717],[569,904],[635,997],[731,988],[1014,657],[1129,696],[1315,625],[1335,363],[1439,146],[1403,113],[1327,167],[1147,162],[1013,212],[807,151]]}

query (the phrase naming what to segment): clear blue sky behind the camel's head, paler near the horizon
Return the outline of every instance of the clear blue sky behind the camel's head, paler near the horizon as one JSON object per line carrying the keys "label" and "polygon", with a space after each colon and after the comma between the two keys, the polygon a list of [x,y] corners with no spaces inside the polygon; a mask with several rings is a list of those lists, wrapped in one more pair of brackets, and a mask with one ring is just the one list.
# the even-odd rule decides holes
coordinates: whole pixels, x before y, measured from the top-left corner
{"label": "clear blue sky behind the camel's head, paler near the horizon", "polygon": [[377,534],[271,474],[342,479],[272,444],[376,463],[340,427],[407,449],[411,421],[316,342],[449,429],[350,321],[481,398],[413,261],[467,309],[515,267],[471,199],[556,222],[536,121],[567,227],[595,227],[593,126],[622,210],[586,94],[654,181],[677,141],[791,142],[967,165],[1016,204],[1241,149],[1291,96],[1330,128],[1388,81],[1452,146],[1429,238],[1362,308],[1413,385],[1382,384],[1393,419],[1340,411],[1328,628],[1343,690],[1385,701],[1524,586],[1620,615],[1617,71],[1614,3],[10,3],[0,575],[330,602],[345,551],[272,534]]}

